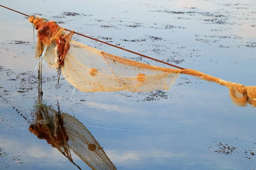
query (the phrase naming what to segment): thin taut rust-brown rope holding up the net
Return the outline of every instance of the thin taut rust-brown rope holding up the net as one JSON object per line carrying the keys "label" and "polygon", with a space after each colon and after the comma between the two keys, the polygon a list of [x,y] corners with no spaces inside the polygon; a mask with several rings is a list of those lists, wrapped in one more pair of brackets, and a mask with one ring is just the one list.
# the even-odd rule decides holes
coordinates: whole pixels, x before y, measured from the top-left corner
{"label": "thin taut rust-brown rope holding up the net", "polygon": [[[11,10],[11,11],[15,11],[14,9],[7,8],[6,6],[2,6],[2,5],[0,5],[0,6],[3,7],[3,8],[9,9],[9,10]],[[23,14],[23,13],[21,13],[21,12],[19,12],[19,11],[15,11],[15,12],[17,12],[17,13],[19,13],[19,14],[22,14],[22,15],[25,15],[25,16],[27,16],[27,17],[30,17],[29,15]],[[69,29],[67,29],[67,28],[64,28],[64,29],[65,29],[66,31],[72,32],[71,30],[69,30]],[[140,54],[140,53],[137,53],[137,52],[128,50],[128,49],[126,49],[126,48],[118,47],[118,46],[113,45],[113,44],[110,44],[110,43],[108,43],[108,42],[104,42],[104,41],[98,40],[98,39],[96,39],[96,38],[89,37],[89,36],[84,35],[84,34],[80,34],[80,33],[75,32],[75,31],[74,31],[74,34],[78,34],[78,35],[80,35],[80,36],[82,36],[82,37],[86,37],[86,38],[89,38],[89,39],[91,39],[91,40],[95,40],[95,41],[101,42],[101,43],[103,43],[103,44],[107,44],[107,45],[110,45],[110,46],[112,46],[112,47],[119,48],[119,49],[121,49],[121,50],[128,51],[128,52],[133,53],[133,54],[137,54],[137,55],[139,55],[139,56],[141,56],[141,57],[145,57],[145,58],[148,58],[148,59],[151,59],[151,60],[154,60],[154,61],[157,61],[157,62],[166,64],[166,65],[170,65],[170,66],[175,67],[175,68],[179,68],[179,69],[182,69],[182,70],[185,69],[185,68],[179,67],[179,66],[177,66],[177,65],[173,65],[173,64],[170,64],[170,63],[168,63],[168,62],[164,62],[164,61],[161,61],[161,60],[159,60],[159,59],[155,59],[155,58],[152,58],[152,57],[148,57],[148,56],[146,56],[146,55],[143,55],[143,54]]]}

